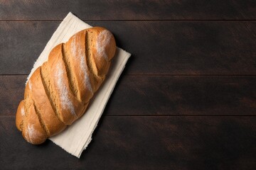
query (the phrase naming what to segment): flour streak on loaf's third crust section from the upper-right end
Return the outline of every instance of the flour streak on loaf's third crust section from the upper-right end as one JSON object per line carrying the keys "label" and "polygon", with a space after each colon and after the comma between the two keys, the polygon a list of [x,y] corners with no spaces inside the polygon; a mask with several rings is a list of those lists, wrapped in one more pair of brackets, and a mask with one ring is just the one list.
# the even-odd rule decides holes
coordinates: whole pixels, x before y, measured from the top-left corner
{"label": "flour streak on loaf's third crust section from the upper-right end", "polygon": [[57,81],[57,86],[58,89],[60,90],[60,102],[63,106],[64,109],[69,109],[70,113],[72,113],[73,115],[75,115],[75,108],[73,106],[73,103],[70,101],[70,98],[68,97],[68,87],[65,86],[64,82],[63,82],[63,74],[64,74],[64,68],[62,67],[62,65],[58,62],[57,63],[57,72],[55,72],[55,77],[58,77],[58,81]]}

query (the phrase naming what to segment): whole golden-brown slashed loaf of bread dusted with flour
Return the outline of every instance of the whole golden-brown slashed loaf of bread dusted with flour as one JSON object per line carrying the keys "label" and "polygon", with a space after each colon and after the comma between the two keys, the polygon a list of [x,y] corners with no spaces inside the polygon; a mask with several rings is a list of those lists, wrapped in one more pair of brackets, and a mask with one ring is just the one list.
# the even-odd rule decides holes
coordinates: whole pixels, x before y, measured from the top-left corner
{"label": "whole golden-brown slashed loaf of bread dusted with flour", "polygon": [[115,50],[114,36],[100,27],[81,30],[55,46],[28,79],[18,105],[16,127],[24,139],[41,144],[80,118],[104,81]]}

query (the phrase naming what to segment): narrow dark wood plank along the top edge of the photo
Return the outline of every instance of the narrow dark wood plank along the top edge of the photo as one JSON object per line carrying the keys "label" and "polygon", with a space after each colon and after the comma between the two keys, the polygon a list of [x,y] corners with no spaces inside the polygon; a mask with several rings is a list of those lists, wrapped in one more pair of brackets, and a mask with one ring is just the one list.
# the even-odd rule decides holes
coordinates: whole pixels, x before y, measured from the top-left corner
{"label": "narrow dark wood plank along the top edge of the photo", "polygon": [[204,1],[0,1],[1,20],[255,20],[253,0]]}

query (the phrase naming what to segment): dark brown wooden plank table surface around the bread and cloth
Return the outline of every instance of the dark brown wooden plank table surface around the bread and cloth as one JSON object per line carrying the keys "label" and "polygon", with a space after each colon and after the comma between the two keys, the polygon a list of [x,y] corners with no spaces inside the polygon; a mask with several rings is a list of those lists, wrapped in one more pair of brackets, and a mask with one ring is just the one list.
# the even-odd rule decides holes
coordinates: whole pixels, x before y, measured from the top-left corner
{"label": "dark brown wooden plank table surface around the bread and cloth", "polygon": [[[15,126],[69,11],[132,53],[80,159]],[[255,19],[254,0],[0,0],[0,169],[256,169]]]}

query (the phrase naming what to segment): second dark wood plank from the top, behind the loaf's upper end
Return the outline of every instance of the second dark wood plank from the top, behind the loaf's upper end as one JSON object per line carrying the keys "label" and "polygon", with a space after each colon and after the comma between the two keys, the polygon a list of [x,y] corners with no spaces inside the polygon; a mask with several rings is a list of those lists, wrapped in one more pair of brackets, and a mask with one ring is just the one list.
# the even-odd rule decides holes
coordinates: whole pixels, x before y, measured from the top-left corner
{"label": "second dark wood plank from the top, behind the loaf's upper end", "polygon": [[[132,53],[124,74],[256,74],[256,22],[90,21]],[[0,74],[28,74],[59,22],[1,22]]]}

